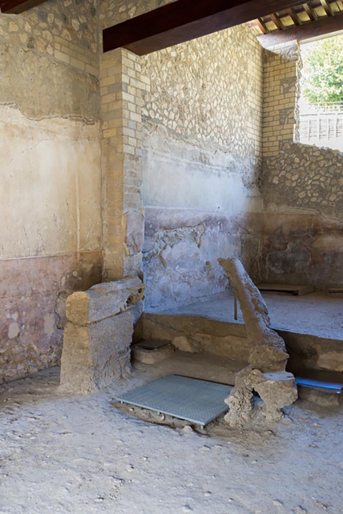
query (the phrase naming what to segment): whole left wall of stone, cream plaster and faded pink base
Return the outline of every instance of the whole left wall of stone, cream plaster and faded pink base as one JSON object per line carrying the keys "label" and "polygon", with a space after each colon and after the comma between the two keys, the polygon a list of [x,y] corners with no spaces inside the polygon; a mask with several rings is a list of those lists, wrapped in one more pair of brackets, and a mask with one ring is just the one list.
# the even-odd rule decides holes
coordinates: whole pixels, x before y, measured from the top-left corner
{"label": "whole left wall of stone, cream plaster and faded pink base", "polygon": [[66,295],[101,280],[96,7],[0,14],[0,381],[57,364]]}

